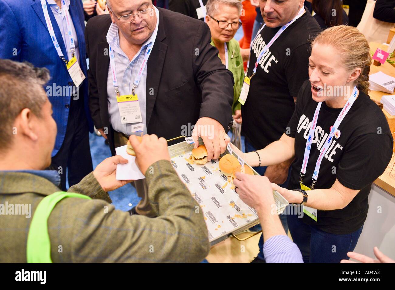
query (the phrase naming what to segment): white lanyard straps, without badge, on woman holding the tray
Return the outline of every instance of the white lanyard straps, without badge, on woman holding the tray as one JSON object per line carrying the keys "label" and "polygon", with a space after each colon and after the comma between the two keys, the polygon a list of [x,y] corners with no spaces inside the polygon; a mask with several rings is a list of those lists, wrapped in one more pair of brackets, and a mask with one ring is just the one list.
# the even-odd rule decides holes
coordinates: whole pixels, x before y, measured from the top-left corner
{"label": "white lanyard straps, without badge, on woman holding the tray", "polygon": [[[312,183],[312,188],[314,188],[314,185],[317,182],[317,177],[318,177],[318,173],[320,172],[320,167],[321,167],[321,161],[322,158],[324,157],[325,153],[327,152],[329,146],[331,145],[331,140],[333,139],[333,136],[335,135],[335,132],[337,130],[337,128],[339,128],[340,123],[343,121],[344,117],[346,116],[346,114],[348,113],[348,111],[350,111],[352,105],[354,104],[355,100],[357,99],[357,87],[354,87],[354,90],[352,91],[352,94],[350,96],[350,98],[347,100],[346,104],[344,105],[343,109],[341,110],[341,112],[339,113],[339,116],[337,117],[335,124],[333,124],[332,126],[332,130],[331,132],[329,132],[329,135],[324,143],[324,145],[322,146],[321,150],[320,150],[320,155],[318,156],[317,162],[316,162],[316,167],[314,169],[314,173],[313,173],[313,183]],[[322,102],[319,102],[316,108],[316,111],[314,112],[314,116],[311,122],[311,127],[310,130],[308,131],[308,138],[306,141],[306,149],[305,149],[305,155],[303,157],[303,164],[302,164],[302,169],[300,172],[301,175],[301,182],[303,182],[303,177],[306,174],[306,167],[307,167],[307,163],[308,163],[308,158],[310,156],[310,150],[311,150],[311,143],[312,143],[312,139],[314,137],[314,132],[316,129],[316,125],[317,125],[317,120],[318,120],[318,114],[320,113],[320,108],[321,108],[321,104]],[[318,142],[317,142],[318,145]]]}

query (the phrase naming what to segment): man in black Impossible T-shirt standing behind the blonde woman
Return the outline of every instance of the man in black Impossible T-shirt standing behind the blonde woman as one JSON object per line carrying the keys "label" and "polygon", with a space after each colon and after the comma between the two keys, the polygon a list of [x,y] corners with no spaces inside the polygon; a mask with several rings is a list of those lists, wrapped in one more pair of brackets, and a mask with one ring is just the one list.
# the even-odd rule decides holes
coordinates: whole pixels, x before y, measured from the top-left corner
{"label": "man in black Impossible T-shirt standing behind the blonde woman", "polygon": [[[304,8],[304,0],[288,0],[282,3],[260,1],[260,11],[265,27],[254,38],[250,50],[247,76],[252,75],[256,60],[281,27],[290,24],[263,54],[256,74],[250,80],[250,89],[244,106],[242,132],[245,136],[245,151],[262,149],[280,139],[295,110],[295,100],[303,82],[308,79],[310,40],[321,31],[320,26]],[[302,10],[305,9],[305,11]],[[303,14],[300,16],[300,12]],[[273,183],[288,185],[288,173],[292,160],[268,167],[254,167]],[[286,216],[280,216],[284,230],[288,231]],[[263,237],[259,241],[263,248]],[[252,262],[262,262],[260,252]]]}

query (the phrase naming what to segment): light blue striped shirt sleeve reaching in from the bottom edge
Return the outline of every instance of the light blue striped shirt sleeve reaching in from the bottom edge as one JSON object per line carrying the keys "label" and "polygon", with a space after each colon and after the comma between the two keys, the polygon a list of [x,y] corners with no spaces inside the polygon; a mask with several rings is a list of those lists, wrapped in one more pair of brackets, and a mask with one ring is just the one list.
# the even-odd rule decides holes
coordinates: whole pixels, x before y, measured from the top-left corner
{"label": "light blue striped shirt sleeve reaching in from the bottom edge", "polygon": [[302,253],[288,236],[278,235],[263,244],[266,263],[303,263]]}

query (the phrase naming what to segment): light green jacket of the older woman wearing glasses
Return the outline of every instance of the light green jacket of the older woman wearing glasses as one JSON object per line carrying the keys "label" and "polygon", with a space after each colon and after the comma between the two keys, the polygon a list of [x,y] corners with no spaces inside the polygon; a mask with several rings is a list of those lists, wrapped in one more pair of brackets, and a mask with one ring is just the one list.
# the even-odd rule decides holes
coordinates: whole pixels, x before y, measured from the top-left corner
{"label": "light green jacket of the older woman wearing glasses", "polygon": [[[211,45],[215,46],[213,39],[211,39]],[[233,85],[232,105],[232,113],[234,115],[236,110],[241,110],[241,104],[237,100],[239,100],[240,97],[241,87],[243,87],[245,74],[243,58],[240,54],[239,42],[236,39],[232,38],[229,42],[226,43],[226,45],[228,46],[228,69],[233,73],[233,79],[235,80],[235,84]]]}

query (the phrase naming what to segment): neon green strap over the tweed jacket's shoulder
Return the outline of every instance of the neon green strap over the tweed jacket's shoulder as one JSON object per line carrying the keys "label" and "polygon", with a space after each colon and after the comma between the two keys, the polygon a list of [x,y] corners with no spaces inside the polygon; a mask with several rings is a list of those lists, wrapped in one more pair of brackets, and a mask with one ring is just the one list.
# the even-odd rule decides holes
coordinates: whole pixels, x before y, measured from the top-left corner
{"label": "neon green strap over the tweed jacket's shoulder", "polygon": [[56,204],[65,197],[91,199],[87,195],[57,191],[44,197],[34,211],[27,237],[26,260],[28,263],[52,263],[51,241],[48,234],[48,217]]}

